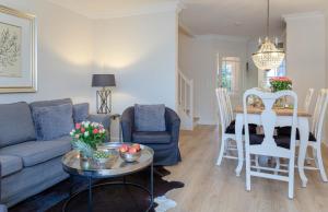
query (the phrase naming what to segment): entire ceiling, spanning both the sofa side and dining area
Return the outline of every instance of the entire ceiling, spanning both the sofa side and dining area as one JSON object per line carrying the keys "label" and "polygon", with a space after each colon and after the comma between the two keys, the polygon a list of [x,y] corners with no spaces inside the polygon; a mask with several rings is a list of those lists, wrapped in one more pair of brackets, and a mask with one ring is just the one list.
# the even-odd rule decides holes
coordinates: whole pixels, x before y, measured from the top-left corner
{"label": "entire ceiling, spanning both the sofa side and dining area", "polygon": [[[91,19],[172,10],[178,0],[48,0]],[[267,0],[180,0],[180,23],[196,35],[259,36],[266,33]],[[328,0],[271,0],[270,31],[280,34],[281,16],[328,11]]]}

